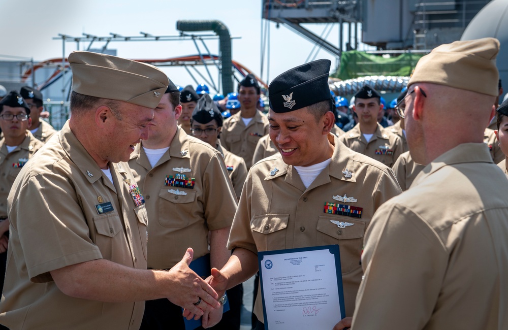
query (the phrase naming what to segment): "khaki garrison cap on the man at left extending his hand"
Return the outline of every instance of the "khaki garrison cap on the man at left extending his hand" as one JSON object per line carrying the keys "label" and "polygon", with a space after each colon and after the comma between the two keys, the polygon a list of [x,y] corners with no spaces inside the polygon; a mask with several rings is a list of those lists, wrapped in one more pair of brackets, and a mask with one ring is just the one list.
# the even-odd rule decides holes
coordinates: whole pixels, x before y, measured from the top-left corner
{"label": "khaki garrison cap on the man at left extending his hand", "polygon": [[89,96],[157,107],[169,79],[153,65],[121,57],[75,51],[69,55],[72,90]]}

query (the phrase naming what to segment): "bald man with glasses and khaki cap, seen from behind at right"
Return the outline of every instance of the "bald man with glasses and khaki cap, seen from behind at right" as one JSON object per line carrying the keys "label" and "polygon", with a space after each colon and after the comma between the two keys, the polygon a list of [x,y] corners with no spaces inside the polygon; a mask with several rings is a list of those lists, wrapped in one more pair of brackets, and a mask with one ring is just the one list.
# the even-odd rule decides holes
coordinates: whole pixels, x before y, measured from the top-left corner
{"label": "bald man with glasses and khaki cap, seen from behind at right", "polygon": [[427,166],[371,221],[352,329],[508,328],[508,181],[483,143],[498,51],[457,41],[417,63],[404,117]]}

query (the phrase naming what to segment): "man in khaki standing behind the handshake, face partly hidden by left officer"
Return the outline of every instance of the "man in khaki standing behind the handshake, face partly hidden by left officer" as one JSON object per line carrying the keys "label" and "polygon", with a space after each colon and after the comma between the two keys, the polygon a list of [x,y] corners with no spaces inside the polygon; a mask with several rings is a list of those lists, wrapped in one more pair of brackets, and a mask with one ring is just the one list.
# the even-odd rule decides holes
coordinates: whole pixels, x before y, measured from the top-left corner
{"label": "man in khaki standing behind the handshake, face partly hidden by left officer", "polygon": [[[129,166],[150,219],[148,268],[172,268],[190,246],[190,267],[207,276],[210,266],[224,266],[231,255],[226,243],[237,200],[223,156],[177,125],[179,96],[170,81],[149,124],[149,138],[136,145]],[[204,325],[218,321],[222,309],[216,313]],[[180,306],[167,299],[147,301],[141,329],[184,329],[181,314]]]}

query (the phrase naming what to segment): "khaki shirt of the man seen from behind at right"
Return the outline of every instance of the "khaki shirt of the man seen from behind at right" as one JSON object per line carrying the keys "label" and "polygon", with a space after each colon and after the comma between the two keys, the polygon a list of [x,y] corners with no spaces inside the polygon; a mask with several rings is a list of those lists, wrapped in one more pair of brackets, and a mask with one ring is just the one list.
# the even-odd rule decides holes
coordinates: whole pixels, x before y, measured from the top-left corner
{"label": "khaki shirt of the man seen from behind at right", "polygon": [[508,182],[483,143],[440,155],[376,211],[353,329],[508,329]]}

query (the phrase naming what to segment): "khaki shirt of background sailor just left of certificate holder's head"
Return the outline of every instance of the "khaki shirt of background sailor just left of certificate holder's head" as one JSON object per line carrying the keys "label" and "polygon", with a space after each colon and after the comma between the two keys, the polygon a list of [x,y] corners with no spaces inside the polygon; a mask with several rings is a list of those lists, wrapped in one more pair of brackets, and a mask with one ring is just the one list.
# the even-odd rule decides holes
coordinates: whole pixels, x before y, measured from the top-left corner
{"label": "khaki shirt of background sailor just left of certificate holder's head", "polygon": [[268,134],[268,119],[260,111],[256,111],[256,115],[245,126],[241,113],[240,111],[224,121],[220,142],[226,149],[242,157],[248,170],[259,139]]}

